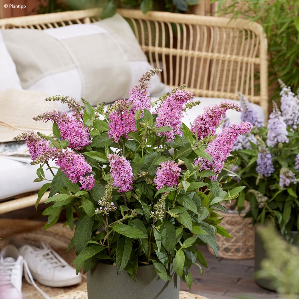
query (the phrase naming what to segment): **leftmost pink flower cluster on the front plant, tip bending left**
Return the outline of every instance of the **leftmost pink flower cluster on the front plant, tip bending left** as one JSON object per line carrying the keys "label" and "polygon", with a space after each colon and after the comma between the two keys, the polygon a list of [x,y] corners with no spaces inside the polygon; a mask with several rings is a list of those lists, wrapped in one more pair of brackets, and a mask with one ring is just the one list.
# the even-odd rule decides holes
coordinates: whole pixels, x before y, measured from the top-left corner
{"label": "leftmost pink flower cluster on the front plant, tip bending left", "polygon": [[22,133],[13,138],[14,141],[18,141],[20,139],[25,139],[31,159],[33,161],[50,150],[49,143],[43,140],[40,136],[36,135],[34,132]]}

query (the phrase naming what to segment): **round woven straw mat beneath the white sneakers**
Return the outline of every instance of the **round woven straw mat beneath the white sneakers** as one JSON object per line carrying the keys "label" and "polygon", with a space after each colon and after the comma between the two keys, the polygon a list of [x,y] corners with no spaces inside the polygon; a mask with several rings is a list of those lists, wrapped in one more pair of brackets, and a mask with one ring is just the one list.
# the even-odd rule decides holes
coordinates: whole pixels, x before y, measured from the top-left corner
{"label": "round woven straw mat beneath the white sneakers", "polygon": [[[68,244],[74,235],[74,232],[68,227],[62,227],[62,223],[56,223],[52,227],[43,231],[45,222],[33,221],[26,219],[0,219],[0,250],[6,245],[7,239],[16,237],[27,243],[35,241],[45,241],[70,265],[73,263],[76,254],[74,250],[70,250],[65,254]],[[50,297],[69,293],[72,291],[86,290],[86,280],[83,279],[81,283],[65,288],[50,288],[37,285],[46,292]],[[34,286],[27,283],[23,278],[22,293],[24,299],[44,299],[42,295],[35,289]]]}

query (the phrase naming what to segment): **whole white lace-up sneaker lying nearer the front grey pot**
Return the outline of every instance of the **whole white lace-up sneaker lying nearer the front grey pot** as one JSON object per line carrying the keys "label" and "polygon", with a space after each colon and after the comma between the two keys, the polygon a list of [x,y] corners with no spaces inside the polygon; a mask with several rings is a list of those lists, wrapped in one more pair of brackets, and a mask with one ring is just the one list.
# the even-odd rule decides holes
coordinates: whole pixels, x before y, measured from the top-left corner
{"label": "whole white lace-up sneaker lying nearer the front grey pot", "polygon": [[28,263],[33,278],[45,286],[64,287],[80,283],[81,275],[60,257],[46,242],[39,246],[23,245],[20,254]]}

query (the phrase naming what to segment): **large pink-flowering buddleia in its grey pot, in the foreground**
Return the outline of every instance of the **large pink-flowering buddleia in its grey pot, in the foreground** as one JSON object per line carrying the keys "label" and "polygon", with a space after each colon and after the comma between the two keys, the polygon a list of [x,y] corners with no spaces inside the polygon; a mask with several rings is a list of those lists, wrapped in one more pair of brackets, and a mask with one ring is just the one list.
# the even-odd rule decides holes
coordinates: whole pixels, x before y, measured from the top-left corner
{"label": "large pink-flowering buddleia in its grey pot, in the foreground", "polygon": [[185,86],[151,103],[148,82],[160,71],[146,72],[130,98],[106,112],[104,104],[94,109],[82,99],[83,108],[73,98],[50,97],[67,103],[71,114],[51,111],[34,118],[54,122],[51,136],[15,138],[27,141],[31,163],[40,164],[37,181],[48,179],[44,167],[54,175],[36,203],[50,187],[45,229],[63,210],[71,229],[77,221],[69,248],[77,254],[77,272],[87,272],[89,299],[178,299],[178,277],[191,288],[191,265],[201,274],[207,267],[196,245],[208,244],[217,256],[214,233],[229,237],[216,211],[244,187],[228,193],[222,190],[225,179],[217,178],[237,137],[252,125],[233,124],[215,135],[227,109],[241,110],[223,101],[206,107],[190,130],[181,119],[199,102]]}

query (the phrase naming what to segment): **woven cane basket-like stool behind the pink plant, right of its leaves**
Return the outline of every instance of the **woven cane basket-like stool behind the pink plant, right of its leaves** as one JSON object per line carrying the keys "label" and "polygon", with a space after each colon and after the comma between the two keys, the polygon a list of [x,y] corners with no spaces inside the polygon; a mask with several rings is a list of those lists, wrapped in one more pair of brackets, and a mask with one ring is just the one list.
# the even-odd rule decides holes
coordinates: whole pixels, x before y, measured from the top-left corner
{"label": "woven cane basket-like stool behind the pink plant, right of its leaves", "polygon": [[[244,218],[247,211],[242,211],[240,215],[236,210],[228,210],[228,213],[218,211],[218,213],[223,217],[220,225],[234,238],[215,235],[219,257],[234,260],[253,258],[254,228],[251,218]],[[210,247],[208,247],[208,251],[214,254]]]}

